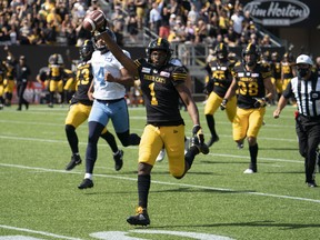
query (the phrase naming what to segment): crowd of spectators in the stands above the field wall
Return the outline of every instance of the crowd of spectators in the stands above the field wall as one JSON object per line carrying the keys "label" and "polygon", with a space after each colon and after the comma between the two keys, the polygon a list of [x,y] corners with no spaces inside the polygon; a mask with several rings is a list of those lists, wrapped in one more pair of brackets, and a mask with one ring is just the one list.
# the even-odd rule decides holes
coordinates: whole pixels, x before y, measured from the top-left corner
{"label": "crowd of spectators in the stands above the field wall", "polygon": [[81,46],[91,37],[81,22],[96,9],[113,23],[120,44],[138,42],[146,27],[170,42],[271,46],[238,0],[2,0],[0,44],[52,46],[62,38]]}

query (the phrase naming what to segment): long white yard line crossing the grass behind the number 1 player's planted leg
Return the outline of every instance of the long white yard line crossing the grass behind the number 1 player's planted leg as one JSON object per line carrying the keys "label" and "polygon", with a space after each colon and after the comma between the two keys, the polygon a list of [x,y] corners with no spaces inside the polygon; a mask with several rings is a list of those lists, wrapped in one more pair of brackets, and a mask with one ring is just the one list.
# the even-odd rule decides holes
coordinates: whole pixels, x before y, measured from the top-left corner
{"label": "long white yard line crossing the grass behind the number 1 player's planted leg", "polygon": [[[31,169],[31,170],[40,170],[44,172],[59,172],[63,174],[83,174],[81,171],[66,171],[66,170],[57,170],[57,169],[46,169],[46,168],[36,168],[36,167],[28,167],[28,166],[19,166],[19,164],[10,164],[10,163],[0,163],[0,167],[7,167],[7,168],[19,168],[19,169]],[[130,178],[130,177],[120,177],[120,176],[111,176],[111,174],[94,174],[94,177],[101,177],[101,178],[112,178],[112,179],[120,179],[120,180],[127,180],[127,181],[137,181],[137,178]],[[208,187],[208,186],[197,186],[197,184],[187,184],[187,183],[178,183],[178,182],[164,182],[164,181],[157,181],[152,180],[152,184],[164,184],[164,186],[176,186],[176,187],[187,187],[187,188],[194,188],[194,189],[206,189],[206,190],[213,190],[213,191],[226,191],[226,192],[239,192],[238,190],[233,189],[224,189],[224,188],[214,188],[214,187]],[[297,200],[297,201],[307,201],[307,202],[316,202],[320,203],[320,200],[317,199],[308,199],[308,198],[300,198],[300,197],[293,197],[293,196],[280,196],[280,194],[273,194],[273,193],[267,193],[267,192],[242,192],[242,194],[252,194],[252,196],[262,196],[262,197],[271,197],[271,198],[278,198],[278,199],[290,199],[290,200]]]}

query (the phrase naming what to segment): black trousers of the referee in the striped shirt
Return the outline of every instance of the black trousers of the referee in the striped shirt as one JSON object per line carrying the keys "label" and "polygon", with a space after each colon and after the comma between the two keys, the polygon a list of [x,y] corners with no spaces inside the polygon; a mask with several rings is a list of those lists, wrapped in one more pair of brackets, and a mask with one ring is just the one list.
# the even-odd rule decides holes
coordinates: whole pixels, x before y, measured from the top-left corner
{"label": "black trousers of the referee in the striped shirt", "polygon": [[299,116],[296,119],[299,152],[304,158],[306,182],[314,181],[317,148],[320,143],[320,117]]}

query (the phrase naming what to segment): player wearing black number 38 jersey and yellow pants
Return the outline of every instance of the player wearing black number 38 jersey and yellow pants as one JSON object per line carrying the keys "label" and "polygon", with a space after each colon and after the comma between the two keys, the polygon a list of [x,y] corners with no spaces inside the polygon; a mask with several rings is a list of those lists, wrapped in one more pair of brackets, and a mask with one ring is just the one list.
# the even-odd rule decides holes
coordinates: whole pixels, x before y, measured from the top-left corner
{"label": "player wearing black number 38 jersey and yellow pants", "polygon": [[236,96],[237,89],[237,114],[233,120],[233,140],[238,146],[243,146],[247,138],[250,152],[250,164],[243,173],[257,172],[258,143],[257,137],[263,122],[266,106],[272,99],[274,87],[271,82],[271,72],[268,66],[258,62],[259,49],[249,43],[242,50],[242,62],[237,62],[232,74],[233,80],[228,89],[221,110],[227,102]]}

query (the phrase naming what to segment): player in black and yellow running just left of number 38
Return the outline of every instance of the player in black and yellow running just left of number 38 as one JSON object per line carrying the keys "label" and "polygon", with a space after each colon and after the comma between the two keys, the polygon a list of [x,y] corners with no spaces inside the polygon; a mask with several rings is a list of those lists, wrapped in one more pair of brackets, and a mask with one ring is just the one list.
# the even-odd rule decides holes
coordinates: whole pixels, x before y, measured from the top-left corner
{"label": "player in black and yellow running just left of number 38", "polygon": [[[209,83],[212,86],[212,91],[210,92],[206,107],[204,107],[204,116],[207,120],[208,128],[211,133],[211,138],[207,143],[208,147],[211,147],[214,142],[219,141],[219,137],[216,131],[216,121],[214,121],[214,112],[220,107],[223,97],[232,82],[231,69],[233,67],[232,63],[228,61],[228,48],[224,43],[219,43],[214,48],[216,59],[212,59],[208,62],[208,71],[209,71]],[[237,108],[237,98],[233,96],[230,98],[227,104],[227,117],[230,122],[233,121],[236,116]]]}

